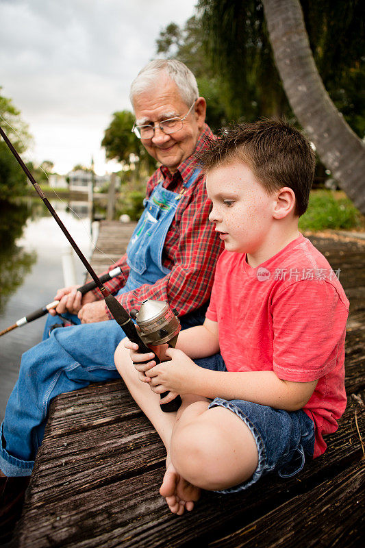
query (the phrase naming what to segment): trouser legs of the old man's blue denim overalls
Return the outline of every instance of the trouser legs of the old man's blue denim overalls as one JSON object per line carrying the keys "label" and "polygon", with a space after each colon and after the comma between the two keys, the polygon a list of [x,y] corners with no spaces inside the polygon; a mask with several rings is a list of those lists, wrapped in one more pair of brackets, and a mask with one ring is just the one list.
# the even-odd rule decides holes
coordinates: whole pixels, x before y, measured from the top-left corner
{"label": "trouser legs of the old man's blue denim overalls", "polygon": [[[77,316],[72,317],[78,321]],[[49,316],[45,336],[51,324],[61,320]],[[180,320],[182,329],[199,325],[204,321],[204,310]],[[23,354],[0,427],[0,469],[5,475],[31,475],[53,397],[90,382],[120,378],[114,351],[124,337],[115,320],[60,327]]]}

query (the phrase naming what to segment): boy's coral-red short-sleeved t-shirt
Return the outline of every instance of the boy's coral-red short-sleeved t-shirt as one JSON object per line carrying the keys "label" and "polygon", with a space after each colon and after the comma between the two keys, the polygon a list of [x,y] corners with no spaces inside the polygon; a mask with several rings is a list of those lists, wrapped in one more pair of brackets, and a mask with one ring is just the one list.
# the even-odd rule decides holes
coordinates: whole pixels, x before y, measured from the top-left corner
{"label": "boy's coral-red short-sleeved t-shirt", "polygon": [[[337,273],[338,274],[338,273]],[[336,273],[301,234],[253,269],[223,251],[207,318],[218,322],[227,371],[275,371],[316,389],[303,410],[316,425],[314,457],[346,407],[344,338],[349,301]]]}

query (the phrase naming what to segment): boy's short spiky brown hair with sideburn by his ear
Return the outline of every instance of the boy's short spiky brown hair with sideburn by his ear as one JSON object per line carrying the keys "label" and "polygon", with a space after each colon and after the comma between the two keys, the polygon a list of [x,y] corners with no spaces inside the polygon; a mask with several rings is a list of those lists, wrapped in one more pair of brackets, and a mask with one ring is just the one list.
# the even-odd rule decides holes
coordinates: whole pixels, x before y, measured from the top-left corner
{"label": "boy's short spiky brown hair with sideburn by his ear", "polygon": [[315,155],[301,132],[284,121],[231,124],[221,130],[217,140],[210,140],[197,157],[204,171],[244,162],[268,195],[288,186],[295,193],[295,214],[303,215],[307,209]]}

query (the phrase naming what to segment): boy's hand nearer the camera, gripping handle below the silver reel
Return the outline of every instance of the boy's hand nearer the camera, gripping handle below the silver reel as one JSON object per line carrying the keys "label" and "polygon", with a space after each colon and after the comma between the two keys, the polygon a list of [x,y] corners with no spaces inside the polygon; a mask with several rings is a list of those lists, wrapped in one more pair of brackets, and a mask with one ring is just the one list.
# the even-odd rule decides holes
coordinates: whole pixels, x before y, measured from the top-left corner
{"label": "boy's hand nearer the camera, gripping handle below the silver reel", "polygon": [[171,358],[171,362],[149,368],[148,375],[151,382],[147,382],[151,390],[156,394],[164,392],[194,394],[195,381],[201,368],[181,350],[168,348],[165,354]]}

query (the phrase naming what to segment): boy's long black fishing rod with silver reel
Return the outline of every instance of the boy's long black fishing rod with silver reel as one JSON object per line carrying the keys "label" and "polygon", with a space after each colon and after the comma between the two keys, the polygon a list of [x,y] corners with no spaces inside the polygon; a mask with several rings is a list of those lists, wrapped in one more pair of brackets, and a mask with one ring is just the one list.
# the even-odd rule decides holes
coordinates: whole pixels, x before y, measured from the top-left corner
{"label": "boy's long black fishing rod with silver reel", "polygon": [[[116,323],[118,323],[118,325],[121,326],[121,328],[123,329],[123,331],[125,332],[125,334],[129,338],[129,340],[131,340],[132,343],[135,343],[136,345],[138,345],[138,348],[139,348],[141,353],[151,352],[151,349],[149,347],[147,347],[147,345],[144,344],[142,338],[138,335],[138,331],[136,329],[136,326],[134,325],[134,322],[132,321],[131,316],[129,316],[127,310],[125,310],[125,308],[123,308],[121,303],[119,301],[117,301],[116,298],[113,297],[113,295],[110,295],[110,291],[107,288],[105,288],[105,286],[103,286],[103,282],[101,282],[99,277],[97,277],[97,274],[95,273],[94,269],[92,269],[91,264],[88,262],[88,260],[84,256],[84,254],[81,252],[81,249],[79,249],[79,247],[77,246],[77,243],[75,242],[75,240],[73,239],[71,234],[66,229],[64,223],[62,223],[60,217],[55,212],[53,206],[51,206],[51,203],[49,203],[49,200],[47,199],[47,196],[45,195],[45,192],[43,192],[42,188],[40,188],[39,184],[36,182],[36,179],[34,179],[32,173],[29,171],[29,169],[27,168],[27,166],[25,165],[25,163],[21,159],[21,156],[18,154],[16,149],[14,149],[12,143],[10,142],[10,139],[5,134],[5,132],[3,131],[3,128],[1,127],[1,125],[0,125],[0,135],[3,138],[3,140],[5,141],[6,145],[8,145],[8,148],[12,152],[12,155],[14,155],[14,158],[16,159],[18,164],[21,166],[21,169],[23,169],[25,175],[27,175],[29,181],[34,186],[38,196],[40,197],[40,199],[42,199],[43,203],[45,203],[45,206],[47,207],[47,209],[49,210],[49,212],[53,216],[53,219],[55,219],[55,221],[58,223],[58,226],[60,227],[60,229],[62,230],[62,232],[66,236],[66,238],[68,239],[68,242],[70,242],[71,246],[73,247],[73,249],[74,249],[75,253],[77,254],[77,256],[79,257],[79,259],[81,260],[82,264],[84,264],[86,270],[88,271],[88,273],[90,274],[90,276],[94,280],[96,287],[99,288],[99,290],[101,291],[101,295],[103,295],[105,305],[110,310],[110,313],[112,314],[112,316],[115,319]],[[147,301],[144,301],[144,303],[148,303],[148,301],[149,301],[149,299],[147,299]],[[155,301],[155,302],[159,302],[159,301]],[[166,303],[164,303],[164,304],[166,304]],[[175,322],[179,323],[179,320],[177,319],[177,316],[175,316],[174,312],[173,312],[173,316],[175,317]],[[155,338],[154,344],[156,344],[158,342],[158,340],[161,340],[164,343],[167,342],[166,337],[168,337],[168,327],[169,326],[173,327],[173,340],[174,340],[174,343],[175,343],[176,336],[177,336],[181,326],[179,325],[178,327],[175,328],[174,321],[164,322],[164,321],[161,320],[160,317],[158,317],[158,321],[156,322],[155,317],[156,317],[155,314],[152,314],[152,316],[151,316],[151,325],[153,325],[153,327],[157,330],[157,333],[158,333],[158,337]],[[161,321],[162,321],[163,325],[161,324]],[[141,329],[141,330],[143,331],[143,329]],[[160,344],[162,344],[162,343],[160,343]],[[158,359],[158,356],[156,356],[156,355],[154,356],[153,360],[156,362],[156,364],[160,363],[160,360]],[[161,397],[164,397],[164,396],[166,396],[166,393],[161,395]],[[160,404],[160,408],[162,409],[162,411],[171,412],[171,411],[176,411],[179,408],[180,405],[181,405],[181,398],[180,398],[180,396],[177,396],[177,397],[175,397],[175,399],[173,399],[172,401],[170,401],[168,403]]]}

